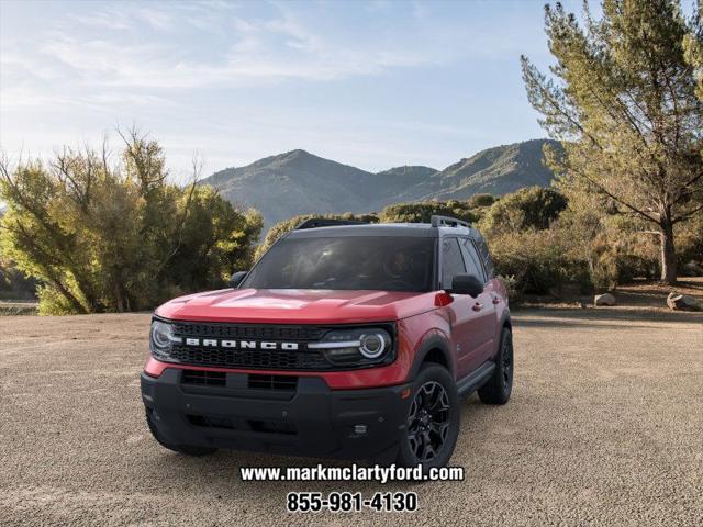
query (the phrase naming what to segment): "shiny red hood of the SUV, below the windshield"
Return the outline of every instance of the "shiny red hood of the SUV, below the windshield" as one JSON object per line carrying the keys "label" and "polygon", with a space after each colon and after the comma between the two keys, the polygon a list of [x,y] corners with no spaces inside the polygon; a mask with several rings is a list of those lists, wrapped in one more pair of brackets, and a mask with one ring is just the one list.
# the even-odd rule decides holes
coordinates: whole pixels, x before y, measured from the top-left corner
{"label": "shiny red hood of the SUV, below the windshield", "polygon": [[435,307],[435,293],[224,289],[174,299],[156,310],[180,321],[342,324],[398,321]]}

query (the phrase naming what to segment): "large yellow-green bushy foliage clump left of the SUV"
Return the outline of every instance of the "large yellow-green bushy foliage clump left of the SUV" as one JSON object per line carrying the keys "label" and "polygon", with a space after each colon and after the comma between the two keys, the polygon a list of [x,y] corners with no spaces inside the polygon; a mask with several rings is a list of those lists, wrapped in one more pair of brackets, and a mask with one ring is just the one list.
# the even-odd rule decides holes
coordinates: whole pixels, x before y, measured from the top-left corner
{"label": "large yellow-green bushy foliage clump left of the SUV", "polygon": [[0,246],[41,282],[42,314],[150,309],[222,285],[252,259],[258,214],[209,187],[167,183],[158,144],[136,132],[123,139],[116,164],[103,147],[0,167]]}

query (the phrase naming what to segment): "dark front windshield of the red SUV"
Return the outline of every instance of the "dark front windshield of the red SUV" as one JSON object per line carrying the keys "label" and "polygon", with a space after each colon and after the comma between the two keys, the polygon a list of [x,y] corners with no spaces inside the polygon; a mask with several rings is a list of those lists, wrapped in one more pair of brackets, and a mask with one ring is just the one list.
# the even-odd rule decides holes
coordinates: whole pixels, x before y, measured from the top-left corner
{"label": "dark front windshield of the red SUV", "polygon": [[431,291],[434,243],[381,236],[283,239],[242,288]]}

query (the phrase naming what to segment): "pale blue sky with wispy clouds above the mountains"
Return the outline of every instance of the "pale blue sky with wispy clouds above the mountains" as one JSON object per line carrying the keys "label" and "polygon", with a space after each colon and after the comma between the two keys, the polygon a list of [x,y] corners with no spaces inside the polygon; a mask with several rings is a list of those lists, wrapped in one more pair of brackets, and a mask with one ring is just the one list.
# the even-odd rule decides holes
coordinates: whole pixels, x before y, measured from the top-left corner
{"label": "pale blue sky with wispy clouds above the mountains", "polygon": [[[566,2],[578,10],[579,2]],[[174,178],[304,148],[436,168],[542,137],[521,53],[544,1],[0,1],[0,147],[99,146],[136,124]]]}

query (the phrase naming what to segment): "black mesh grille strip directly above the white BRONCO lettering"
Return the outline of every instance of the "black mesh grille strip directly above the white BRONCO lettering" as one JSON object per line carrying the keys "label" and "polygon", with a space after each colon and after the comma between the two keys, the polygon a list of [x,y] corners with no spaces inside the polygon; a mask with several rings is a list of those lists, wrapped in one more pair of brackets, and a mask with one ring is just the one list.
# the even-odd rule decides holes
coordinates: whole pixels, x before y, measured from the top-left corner
{"label": "black mesh grille strip directly above the white BRONCO lettering", "polygon": [[274,324],[199,324],[176,323],[180,337],[252,338],[255,340],[320,340],[328,330],[316,326],[280,326]]}

